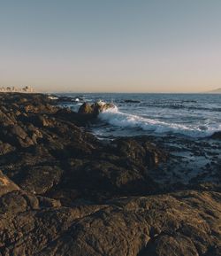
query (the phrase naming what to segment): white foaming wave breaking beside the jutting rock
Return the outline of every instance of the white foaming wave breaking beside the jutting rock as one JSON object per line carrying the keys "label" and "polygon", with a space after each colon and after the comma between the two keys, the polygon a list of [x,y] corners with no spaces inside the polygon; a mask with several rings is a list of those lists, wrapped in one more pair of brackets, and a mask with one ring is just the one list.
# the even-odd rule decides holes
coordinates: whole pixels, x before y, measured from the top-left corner
{"label": "white foaming wave breaking beside the jutting rock", "polygon": [[110,125],[120,128],[141,128],[144,131],[156,134],[176,133],[185,136],[205,137],[211,136],[214,132],[221,129],[221,125],[182,125],[169,123],[160,120],[153,120],[141,116],[119,112],[118,107],[108,109],[99,114],[99,119],[108,122]]}

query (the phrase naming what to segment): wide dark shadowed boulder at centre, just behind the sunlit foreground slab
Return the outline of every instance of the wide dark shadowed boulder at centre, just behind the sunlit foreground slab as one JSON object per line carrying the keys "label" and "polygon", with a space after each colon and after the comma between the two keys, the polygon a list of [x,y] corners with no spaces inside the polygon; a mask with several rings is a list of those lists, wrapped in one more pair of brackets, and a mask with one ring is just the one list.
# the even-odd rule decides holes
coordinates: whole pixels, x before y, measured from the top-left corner
{"label": "wide dark shadowed boulder at centre, just behind the sunlit foreground slab", "polygon": [[[156,189],[156,183],[145,170],[136,167],[118,167],[107,161],[91,160],[70,168],[63,182],[66,187],[98,201],[125,195],[138,195]],[[64,184],[64,187],[65,187]]]}

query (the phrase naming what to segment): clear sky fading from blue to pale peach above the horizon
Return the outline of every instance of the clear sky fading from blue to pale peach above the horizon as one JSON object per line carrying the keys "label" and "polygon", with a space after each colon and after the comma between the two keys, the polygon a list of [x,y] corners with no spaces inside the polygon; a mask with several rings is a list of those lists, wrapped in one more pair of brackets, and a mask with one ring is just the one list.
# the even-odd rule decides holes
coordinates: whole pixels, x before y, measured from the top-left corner
{"label": "clear sky fading from blue to pale peach above the horizon", "polygon": [[0,0],[0,87],[221,87],[220,0]]}

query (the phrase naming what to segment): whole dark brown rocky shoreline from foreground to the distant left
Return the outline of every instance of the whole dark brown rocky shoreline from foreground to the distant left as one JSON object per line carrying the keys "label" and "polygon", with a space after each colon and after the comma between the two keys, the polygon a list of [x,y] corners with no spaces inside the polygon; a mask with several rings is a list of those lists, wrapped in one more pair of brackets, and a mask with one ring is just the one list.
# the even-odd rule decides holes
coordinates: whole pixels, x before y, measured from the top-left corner
{"label": "whole dark brown rocky shoreline from foreground to the distant left", "polygon": [[211,179],[160,182],[183,167],[174,145],[100,141],[91,119],[46,95],[0,94],[0,255],[221,255],[220,134]]}

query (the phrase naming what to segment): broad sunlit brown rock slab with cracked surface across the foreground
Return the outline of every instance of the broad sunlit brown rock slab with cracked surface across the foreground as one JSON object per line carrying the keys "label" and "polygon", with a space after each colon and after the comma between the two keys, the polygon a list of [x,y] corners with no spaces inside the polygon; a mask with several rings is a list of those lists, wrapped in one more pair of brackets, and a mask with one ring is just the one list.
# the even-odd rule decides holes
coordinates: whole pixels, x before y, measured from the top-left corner
{"label": "broad sunlit brown rock slab with cracked surface across the foreground", "polygon": [[[59,256],[219,255],[220,199],[220,193],[183,191],[118,198],[101,206],[38,211],[27,211],[25,200],[13,220],[10,215],[0,219],[4,230],[0,233],[1,252]],[[13,225],[17,236],[12,232]]]}

